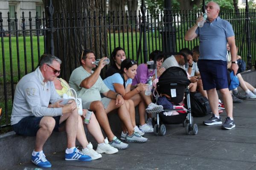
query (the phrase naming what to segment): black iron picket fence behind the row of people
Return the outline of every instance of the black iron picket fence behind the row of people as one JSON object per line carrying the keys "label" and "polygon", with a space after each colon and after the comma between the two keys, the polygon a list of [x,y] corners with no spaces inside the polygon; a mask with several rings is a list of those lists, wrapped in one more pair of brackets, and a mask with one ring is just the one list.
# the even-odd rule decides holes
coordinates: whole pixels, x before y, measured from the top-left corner
{"label": "black iron picket fence behind the row of people", "polygon": [[[49,8],[50,9],[50,8]],[[199,40],[185,41],[186,31],[195,24],[200,10],[148,12],[49,12],[47,18],[29,16],[21,20],[3,19],[0,12],[0,128],[8,127],[15,85],[35,70],[43,53],[61,58],[61,77],[68,80],[79,66],[82,49],[93,49],[96,58],[111,56],[116,46],[125,49],[128,58],[144,63],[155,49],[178,52],[192,49]],[[236,35],[239,55],[250,68],[256,57],[256,10],[221,11]],[[249,44],[248,44],[249,43]],[[214,47],[212,47],[214,48]]]}

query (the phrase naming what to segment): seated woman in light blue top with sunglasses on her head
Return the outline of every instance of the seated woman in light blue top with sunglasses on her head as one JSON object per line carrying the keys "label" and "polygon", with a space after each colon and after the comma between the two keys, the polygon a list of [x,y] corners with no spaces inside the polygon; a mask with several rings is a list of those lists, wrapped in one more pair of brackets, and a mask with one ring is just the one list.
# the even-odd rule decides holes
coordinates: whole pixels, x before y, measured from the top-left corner
{"label": "seated woman in light blue top with sunglasses on her head", "polygon": [[[152,103],[150,96],[145,95],[145,89],[147,88],[147,84],[137,84],[136,88],[131,90],[131,83],[132,79],[134,79],[135,75],[137,74],[137,62],[131,59],[125,59],[121,63],[121,70],[119,73],[115,73],[112,76],[106,78],[104,83],[108,86],[109,89],[120,93],[125,100],[132,101],[134,106],[139,105],[139,112],[140,112],[140,130],[143,133],[152,133],[153,128],[149,127],[145,124],[145,107],[147,108],[148,112],[159,112],[162,110],[162,106],[158,106]],[[143,98],[140,97],[140,94],[144,94]],[[134,107],[129,108],[130,112],[135,113]],[[143,109],[141,111],[140,109]],[[142,113],[142,114],[141,114]],[[135,124],[135,118],[133,118],[133,124]],[[121,139],[125,136],[126,132],[122,132]]]}

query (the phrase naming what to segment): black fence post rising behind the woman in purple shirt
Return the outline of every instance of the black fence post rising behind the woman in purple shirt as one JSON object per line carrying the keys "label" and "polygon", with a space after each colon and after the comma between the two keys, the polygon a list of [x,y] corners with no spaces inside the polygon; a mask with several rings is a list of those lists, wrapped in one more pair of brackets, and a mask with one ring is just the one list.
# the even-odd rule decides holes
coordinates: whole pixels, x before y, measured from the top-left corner
{"label": "black fence post rising behind the woman in purple shirt", "polygon": [[146,23],[146,6],[144,3],[144,0],[141,1],[141,13],[142,13],[142,23],[143,23],[143,59],[144,63],[148,61],[148,46],[147,46],[147,35],[146,35],[146,28],[147,28],[147,23]]}

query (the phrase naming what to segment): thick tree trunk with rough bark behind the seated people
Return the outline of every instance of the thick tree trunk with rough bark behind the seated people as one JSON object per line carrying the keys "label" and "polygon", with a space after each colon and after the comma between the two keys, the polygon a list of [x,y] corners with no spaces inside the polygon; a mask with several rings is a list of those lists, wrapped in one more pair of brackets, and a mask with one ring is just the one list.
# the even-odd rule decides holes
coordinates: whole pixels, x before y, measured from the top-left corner
{"label": "thick tree trunk with rough bark behind the seated people", "polygon": [[[48,6],[49,0],[46,1]],[[103,36],[104,28],[101,28],[102,37],[100,39],[98,27],[103,25],[102,11],[105,11],[106,7],[104,0],[53,0],[52,3],[55,23],[55,55],[62,61],[61,77],[68,81],[73,69],[80,65],[83,49],[95,51],[96,58],[108,55],[108,49],[105,49],[105,43],[108,42],[105,42]],[[94,23],[94,11],[96,12],[96,23]],[[100,22],[99,12],[101,13]],[[94,26],[94,24],[97,26],[96,32],[94,27],[88,27],[89,21],[91,26]],[[56,29],[57,27],[60,29]],[[100,42],[102,43],[101,46]]]}

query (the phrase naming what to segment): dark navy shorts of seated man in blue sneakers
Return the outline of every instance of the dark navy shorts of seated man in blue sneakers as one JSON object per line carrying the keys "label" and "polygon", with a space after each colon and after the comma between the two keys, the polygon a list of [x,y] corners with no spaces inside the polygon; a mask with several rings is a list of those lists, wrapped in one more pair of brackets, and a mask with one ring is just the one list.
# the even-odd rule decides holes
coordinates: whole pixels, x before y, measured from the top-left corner
{"label": "dark navy shorts of seated man in blue sneakers", "polygon": [[[36,136],[42,118],[43,117],[35,116],[28,116],[26,118],[23,118],[17,124],[12,125],[13,130],[18,135]],[[58,128],[60,127],[61,116],[54,116],[52,118],[54,118],[56,122],[53,130],[58,132]]]}

